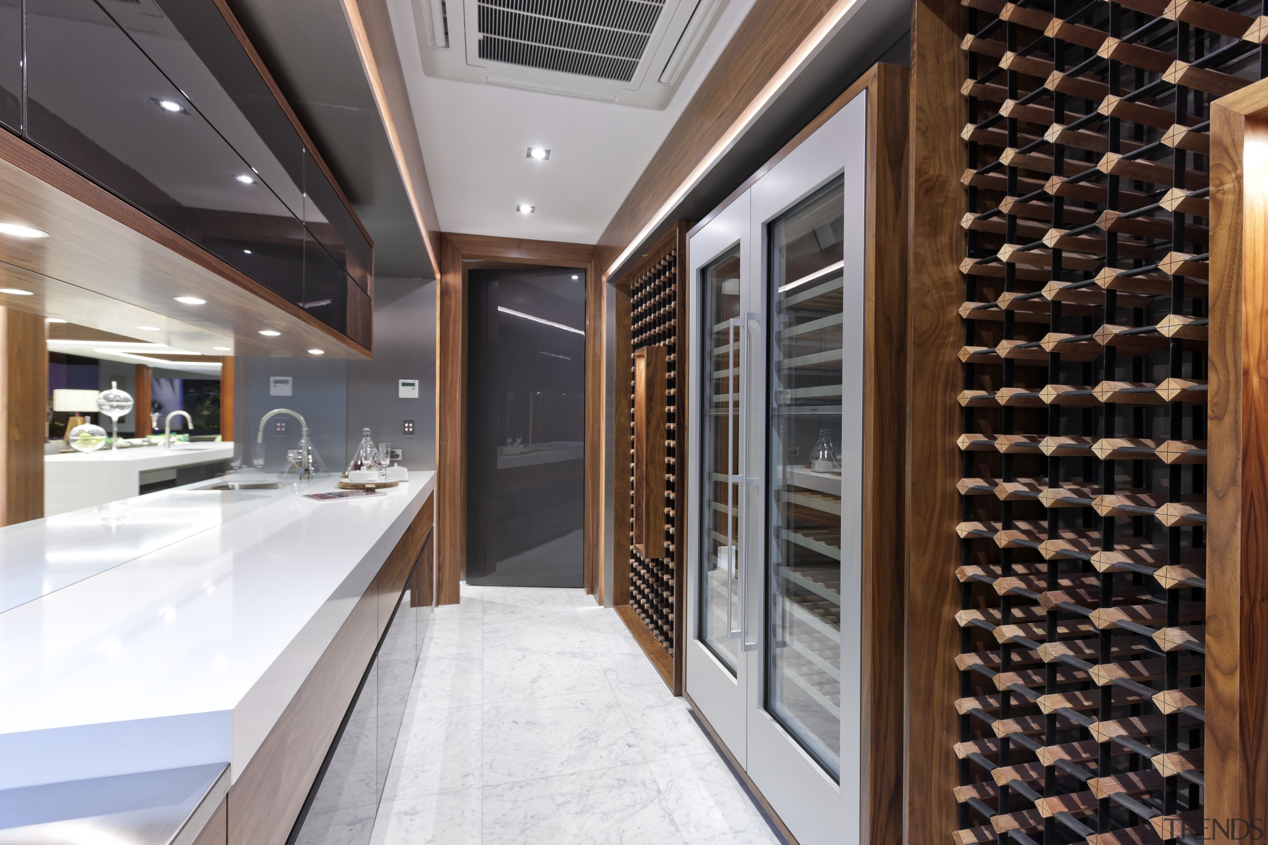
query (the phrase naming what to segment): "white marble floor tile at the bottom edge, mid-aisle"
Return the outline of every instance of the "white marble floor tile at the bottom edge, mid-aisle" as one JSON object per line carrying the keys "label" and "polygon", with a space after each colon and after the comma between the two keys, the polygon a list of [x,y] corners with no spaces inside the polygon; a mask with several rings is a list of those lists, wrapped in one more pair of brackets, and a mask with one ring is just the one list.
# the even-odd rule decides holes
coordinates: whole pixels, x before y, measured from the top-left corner
{"label": "white marble floor tile at the bottom edge, mid-aisle", "polygon": [[645,763],[484,789],[483,845],[677,845]]}

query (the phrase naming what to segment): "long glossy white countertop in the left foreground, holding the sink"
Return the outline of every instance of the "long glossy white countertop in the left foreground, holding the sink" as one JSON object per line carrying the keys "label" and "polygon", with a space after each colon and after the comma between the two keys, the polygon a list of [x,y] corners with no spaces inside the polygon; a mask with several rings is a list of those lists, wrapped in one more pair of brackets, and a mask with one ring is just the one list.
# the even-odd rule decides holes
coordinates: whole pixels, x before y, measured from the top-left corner
{"label": "long glossy white countertop in the left foreground, holding the sink", "polygon": [[434,483],[314,502],[200,481],[132,499],[113,533],[95,509],[0,528],[0,789],[209,763],[236,777]]}

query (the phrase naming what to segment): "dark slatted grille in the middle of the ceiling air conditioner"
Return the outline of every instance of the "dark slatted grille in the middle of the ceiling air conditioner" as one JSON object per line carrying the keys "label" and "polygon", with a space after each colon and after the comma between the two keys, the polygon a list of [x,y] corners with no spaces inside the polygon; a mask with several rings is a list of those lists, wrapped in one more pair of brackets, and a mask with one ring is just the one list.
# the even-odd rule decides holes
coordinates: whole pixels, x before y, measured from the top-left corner
{"label": "dark slatted grille in the middle of the ceiling air conditioner", "polygon": [[664,0],[479,0],[479,57],[629,82]]}

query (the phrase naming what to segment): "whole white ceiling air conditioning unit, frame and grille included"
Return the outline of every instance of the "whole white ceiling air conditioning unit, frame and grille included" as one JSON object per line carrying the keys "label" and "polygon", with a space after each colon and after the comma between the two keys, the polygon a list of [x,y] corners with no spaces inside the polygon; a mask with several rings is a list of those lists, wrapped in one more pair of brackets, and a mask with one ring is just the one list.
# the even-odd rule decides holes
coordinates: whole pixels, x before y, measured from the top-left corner
{"label": "whole white ceiling air conditioning unit, frame and grille included", "polygon": [[429,76],[650,109],[725,1],[413,0]]}

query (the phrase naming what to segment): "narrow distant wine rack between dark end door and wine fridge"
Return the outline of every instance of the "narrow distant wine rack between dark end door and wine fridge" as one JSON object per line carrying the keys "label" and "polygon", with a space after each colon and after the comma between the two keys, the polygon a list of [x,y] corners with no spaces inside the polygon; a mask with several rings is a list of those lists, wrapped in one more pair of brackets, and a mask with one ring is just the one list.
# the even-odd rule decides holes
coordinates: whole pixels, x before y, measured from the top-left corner
{"label": "narrow distant wine rack between dark end door and wine fridge", "polygon": [[[624,616],[628,625],[642,625],[650,635],[650,639],[639,637],[639,640],[644,644],[644,649],[653,650],[649,654],[652,663],[661,670],[675,693],[682,688],[682,660],[678,647],[680,621],[683,618],[680,607],[682,550],[677,533],[678,492],[682,489],[678,480],[678,460],[682,454],[678,438],[680,421],[683,418],[682,385],[678,379],[682,367],[678,350],[685,348],[682,345],[685,319],[680,309],[686,307],[680,288],[680,262],[683,252],[681,238],[685,232],[685,224],[677,224],[629,274],[631,355],[623,365],[629,372],[629,390],[625,394],[630,413],[626,441],[630,497],[628,554],[629,609],[634,618],[630,618],[630,613]],[[647,353],[639,355],[639,351],[650,351],[650,347],[664,350],[663,355],[656,356],[661,362],[658,366],[663,367],[663,374],[657,379],[664,384],[663,395],[647,395],[639,400],[635,357],[649,359]],[[645,452],[639,448],[637,435],[642,429],[640,412],[647,417],[642,421],[647,431],[663,432],[663,446],[656,443],[657,448],[645,448]],[[663,461],[663,465],[637,466],[635,456],[642,454],[654,456],[657,461]],[[663,474],[663,483],[640,483],[637,470],[642,470],[644,479],[659,471]],[[644,494],[652,494],[657,500],[652,502]],[[642,500],[643,498],[647,500]],[[642,517],[638,526],[635,516]],[[657,649],[659,654],[654,651]]]}

